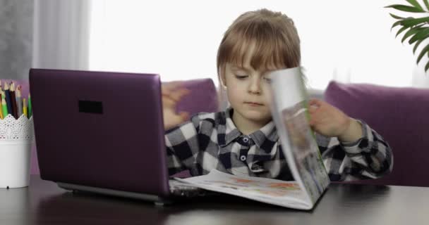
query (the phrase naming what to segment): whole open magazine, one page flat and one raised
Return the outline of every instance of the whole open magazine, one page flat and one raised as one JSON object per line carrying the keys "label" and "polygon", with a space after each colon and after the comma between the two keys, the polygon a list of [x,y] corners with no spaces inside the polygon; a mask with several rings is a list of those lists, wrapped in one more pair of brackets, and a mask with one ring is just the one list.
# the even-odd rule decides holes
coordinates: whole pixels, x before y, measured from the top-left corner
{"label": "whole open magazine, one page flat and one raised", "polygon": [[270,74],[270,78],[272,117],[295,181],[236,176],[216,169],[207,175],[177,179],[210,191],[310,210],[330,180],[308,123],[308,98],[301,68],[277,70]]}

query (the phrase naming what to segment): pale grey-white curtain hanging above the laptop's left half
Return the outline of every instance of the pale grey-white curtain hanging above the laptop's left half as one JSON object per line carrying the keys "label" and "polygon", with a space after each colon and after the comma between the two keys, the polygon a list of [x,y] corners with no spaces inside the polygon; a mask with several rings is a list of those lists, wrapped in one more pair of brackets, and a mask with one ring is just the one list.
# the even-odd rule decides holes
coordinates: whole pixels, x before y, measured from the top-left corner
{"label": "pale grey-white curtain hanging above the laptop's left half", "polygon": [[32,67],[87,70],[90,2],[35,0]]}

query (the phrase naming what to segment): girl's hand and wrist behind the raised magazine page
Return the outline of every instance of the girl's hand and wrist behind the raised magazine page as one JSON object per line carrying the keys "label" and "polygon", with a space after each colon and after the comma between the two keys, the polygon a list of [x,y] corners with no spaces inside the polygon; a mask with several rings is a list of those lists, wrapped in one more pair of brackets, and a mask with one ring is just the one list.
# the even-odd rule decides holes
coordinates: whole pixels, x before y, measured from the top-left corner
{"label": "girl's hand and wrist behind the raised magazine page", "polygon": [[319,134],[336,136],[340,141],[357,141],[363,136],[361,124],[338,108],[319,99],[308,103],[310,126]]}

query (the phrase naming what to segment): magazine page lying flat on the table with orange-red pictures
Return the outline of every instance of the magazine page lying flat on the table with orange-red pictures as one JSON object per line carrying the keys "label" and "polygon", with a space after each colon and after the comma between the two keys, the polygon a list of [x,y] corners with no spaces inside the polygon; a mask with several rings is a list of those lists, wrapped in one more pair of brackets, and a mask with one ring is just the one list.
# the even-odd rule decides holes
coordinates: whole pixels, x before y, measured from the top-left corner
{"label": "magazine page lying flat on the table with orange-red pictures", "polygon": [[280,181],[253,176],[236,176],[212,169],[209,174],[176,180],[209,191],[237,195],[262,203],[309,210],[306,192],[296,181]]}

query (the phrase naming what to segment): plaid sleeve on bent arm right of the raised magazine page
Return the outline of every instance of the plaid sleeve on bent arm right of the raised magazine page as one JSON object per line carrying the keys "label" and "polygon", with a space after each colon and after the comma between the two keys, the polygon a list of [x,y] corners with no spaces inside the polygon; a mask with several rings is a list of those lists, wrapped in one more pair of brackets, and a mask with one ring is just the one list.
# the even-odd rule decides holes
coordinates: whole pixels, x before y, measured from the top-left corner
{"label": "plaid sleeve on bent arm right of the raised magazine page", "polygon": [[392,150],[380,134],[361,122],[363,137],[343,142],[317,134],[322,159],[331,181],[377,179],[392,172]]}

